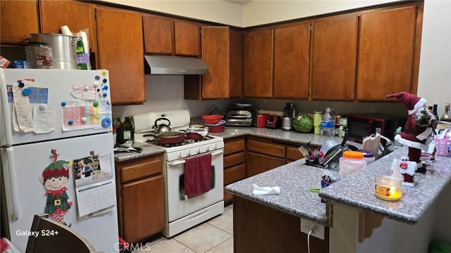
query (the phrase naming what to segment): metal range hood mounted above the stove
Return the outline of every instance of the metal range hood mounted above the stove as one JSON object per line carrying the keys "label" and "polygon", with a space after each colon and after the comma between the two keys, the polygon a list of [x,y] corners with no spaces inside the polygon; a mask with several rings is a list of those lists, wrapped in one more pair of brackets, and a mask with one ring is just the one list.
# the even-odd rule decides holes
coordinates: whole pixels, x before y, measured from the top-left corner
{"label": "metal range hood mounted above the stove", "polygon": [[146,74],[207,74],[204,61],[182,56],[144,56]]}

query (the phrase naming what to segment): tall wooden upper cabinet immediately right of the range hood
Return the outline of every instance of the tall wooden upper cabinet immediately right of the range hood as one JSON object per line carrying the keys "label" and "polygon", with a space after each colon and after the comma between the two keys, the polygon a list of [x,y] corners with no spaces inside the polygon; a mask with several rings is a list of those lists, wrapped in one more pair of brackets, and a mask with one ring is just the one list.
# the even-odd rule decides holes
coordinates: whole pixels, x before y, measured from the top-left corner
{"label": "tall wooden upper cabinet immediately right of the range hood", "polygon": [[202,75],[203,99],[242,95],[242,32],[202,27],[202,60],[209,70]]}

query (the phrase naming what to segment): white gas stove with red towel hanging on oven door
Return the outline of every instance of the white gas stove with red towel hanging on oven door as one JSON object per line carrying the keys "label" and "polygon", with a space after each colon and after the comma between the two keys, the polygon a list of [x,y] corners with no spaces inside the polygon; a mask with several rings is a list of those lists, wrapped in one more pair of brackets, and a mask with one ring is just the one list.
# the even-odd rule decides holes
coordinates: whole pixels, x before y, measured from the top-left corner
{"label": "white gas stove with red towel hanging on oven door", "polygon": [[[185,130],[190,126],[190,113],[187,110],[149,112],[133,115],[135,122],[135,141],[157,145],[165,150],[163,179],[166,202],[166,229],[163,235],[171,238],[192,226],[222,214],[223,202],[223,138],[205,136],[200,140],[185,138],[180,143],[161,145],[153,134],[155,124],[168,124],[172,131]],[[163,118],[163,119],[161,119]],[[168,119],[168,121],[164,120]],[[211,188],[206,193],[187,197],[185,192],[185,162],[193,157],[211,154]]]}

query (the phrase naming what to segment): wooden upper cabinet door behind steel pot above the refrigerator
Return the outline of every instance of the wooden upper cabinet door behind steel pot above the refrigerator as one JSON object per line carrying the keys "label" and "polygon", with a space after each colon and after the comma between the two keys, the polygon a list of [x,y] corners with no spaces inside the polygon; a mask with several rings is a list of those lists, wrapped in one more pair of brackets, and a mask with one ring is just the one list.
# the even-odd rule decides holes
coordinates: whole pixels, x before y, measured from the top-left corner
{"label": "wooden upper cabinet door behind steel pot above the refrigerator", "polygon": [[67,25],[74,34],[87,30],[89,51],[97,47],[94,6],[82,1],[39,1],[42,33],[61,33],[60,27]]}

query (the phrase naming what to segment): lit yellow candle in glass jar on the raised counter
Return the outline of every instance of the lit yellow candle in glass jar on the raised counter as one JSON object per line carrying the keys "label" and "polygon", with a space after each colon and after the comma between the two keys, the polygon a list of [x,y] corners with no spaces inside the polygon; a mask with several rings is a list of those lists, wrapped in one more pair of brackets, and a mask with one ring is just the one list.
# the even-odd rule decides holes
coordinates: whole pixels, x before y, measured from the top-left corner
{"label": "lit yellow candle in glass jar on the raised counter", "polygon": [[374,194],[383,200],[396,201],[402,196],[402,179],[393,176],[376,176]]}

